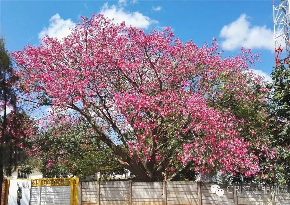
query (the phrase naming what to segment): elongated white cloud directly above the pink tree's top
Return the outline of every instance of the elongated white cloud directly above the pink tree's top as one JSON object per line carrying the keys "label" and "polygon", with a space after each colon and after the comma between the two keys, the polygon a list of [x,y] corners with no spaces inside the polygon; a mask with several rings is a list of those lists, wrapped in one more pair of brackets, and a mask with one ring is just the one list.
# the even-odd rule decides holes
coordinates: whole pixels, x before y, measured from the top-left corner
{"label": "elongated white cloud directly above the pink tree's top", "polygon": [[105,3],[101,8],[101,14],[109,19],[114,19],[114,23],[121,23],[125,21],[126,26],[132,25],[137,28],[147,29],[152,23],[158,24],[158,21],[150,19],[148,16],[144,16],[142,13],[126,12],[123,7],[117,8],[115,5],[109,7],[108,3]]}

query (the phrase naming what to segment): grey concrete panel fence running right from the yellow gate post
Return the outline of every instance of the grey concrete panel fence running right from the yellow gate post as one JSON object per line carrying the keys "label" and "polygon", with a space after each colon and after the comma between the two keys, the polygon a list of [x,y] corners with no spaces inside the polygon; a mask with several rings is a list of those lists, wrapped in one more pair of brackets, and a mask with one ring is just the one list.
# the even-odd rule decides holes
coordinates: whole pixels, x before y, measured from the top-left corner
{"label": "grey concrete panel fence running right from the yellow gate post", "polygon": [[290,187],[187,181],[82,182],[81,205],[290,205]]}

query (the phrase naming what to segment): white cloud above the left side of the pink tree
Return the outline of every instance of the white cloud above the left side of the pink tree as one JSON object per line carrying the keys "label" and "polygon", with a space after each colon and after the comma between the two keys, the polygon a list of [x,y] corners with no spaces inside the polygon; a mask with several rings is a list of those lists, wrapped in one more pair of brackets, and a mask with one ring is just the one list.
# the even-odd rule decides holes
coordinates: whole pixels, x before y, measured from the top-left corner
{"label": "white cloud above the left side of the pink tree", "polygon": [[48,28],[43,28],[38,34],[38,38],[42,39],[44,35],[48,35],[52,38],[57,38],[61,40],[62,38],[70,35],[71,30],[69,28],[74,28],[75,23],[71,19],[62,19],[59,14],[53,15],[49,19]]}

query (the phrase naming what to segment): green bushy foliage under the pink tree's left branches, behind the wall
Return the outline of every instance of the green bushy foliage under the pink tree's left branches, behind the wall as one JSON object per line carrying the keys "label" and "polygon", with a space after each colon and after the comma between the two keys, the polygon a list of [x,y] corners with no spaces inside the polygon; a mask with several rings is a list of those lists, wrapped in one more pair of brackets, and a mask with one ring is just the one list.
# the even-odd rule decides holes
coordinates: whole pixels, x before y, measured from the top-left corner
{"label": "green bushy foliage under the pink tree's left branches, behind the wall", "polygon": [[[40,171],[47,177],[73,175],[81,179],[101,172],[104,175],[125,173],[125,169],[112,159],[112,152],[88,133],[90,126],[80,121],[73,127],[54,126],[37,136],[41,146]],[[56,134],[57,133],[57,134]]]}

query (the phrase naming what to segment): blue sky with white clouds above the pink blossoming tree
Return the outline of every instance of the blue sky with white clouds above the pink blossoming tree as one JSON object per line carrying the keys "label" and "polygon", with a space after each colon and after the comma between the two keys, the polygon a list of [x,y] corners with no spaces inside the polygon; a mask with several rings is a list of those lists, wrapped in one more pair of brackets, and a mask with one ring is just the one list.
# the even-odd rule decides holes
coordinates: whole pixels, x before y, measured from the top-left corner
{"label": "blue sky with white clouds above the pink blossoming tree", "polygon": [[254,69],[265,79],[275,64],[272,1],[1,1],[1,35],[9,50],[21,50],[39,45],[43,34],[62,37],[80,16],[100,12],[146,31],[171,26],[198,46],[216,37],[225,57],[252,48],[262,54]]}

